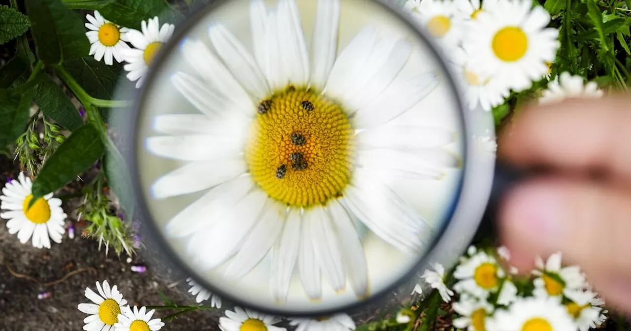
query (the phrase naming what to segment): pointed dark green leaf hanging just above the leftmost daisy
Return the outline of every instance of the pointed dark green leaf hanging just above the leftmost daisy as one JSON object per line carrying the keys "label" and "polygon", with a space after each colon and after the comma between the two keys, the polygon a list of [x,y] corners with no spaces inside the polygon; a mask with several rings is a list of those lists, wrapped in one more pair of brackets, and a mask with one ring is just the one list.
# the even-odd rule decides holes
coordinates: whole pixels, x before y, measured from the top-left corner
{"label": "pointed dark green leaf hanging just above the leftmost daisy", "polygon": [[72,182],[103,155],[103,149],[94,125],[88,123],[74,131],[42,166],[33,182],[33,201]]}

